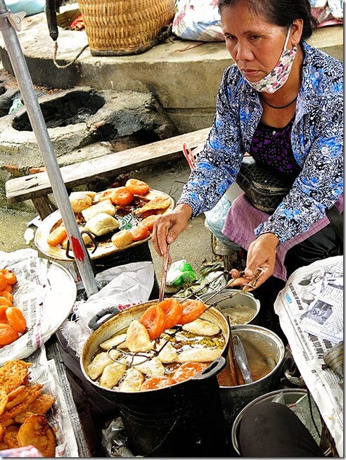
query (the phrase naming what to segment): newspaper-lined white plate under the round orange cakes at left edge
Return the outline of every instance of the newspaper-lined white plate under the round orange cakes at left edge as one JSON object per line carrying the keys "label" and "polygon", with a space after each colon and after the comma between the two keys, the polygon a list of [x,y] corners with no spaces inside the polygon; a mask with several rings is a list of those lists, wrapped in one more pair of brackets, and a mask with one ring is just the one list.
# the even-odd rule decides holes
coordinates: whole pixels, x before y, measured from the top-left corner
{"label": "newspaper-lined white plate under the round orange cakes at left edge", "polygon": [[28,357],[51,337],[70,314],[77,287],[65,267],[38,257],[32,249],[0,251],[0,268],[10,269],[17,276],[13,305],[27,321],[27,331],[1,348],[1,365],[9,359]]}

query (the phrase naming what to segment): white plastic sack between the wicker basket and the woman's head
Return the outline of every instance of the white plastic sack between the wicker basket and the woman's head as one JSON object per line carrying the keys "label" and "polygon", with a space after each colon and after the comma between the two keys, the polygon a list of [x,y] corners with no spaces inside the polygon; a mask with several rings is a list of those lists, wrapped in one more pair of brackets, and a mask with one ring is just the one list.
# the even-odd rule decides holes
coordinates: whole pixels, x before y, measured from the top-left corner
{"label": "white plastic sack between the wicker basket and the woman's head", "polygon": [[172,32],[186,40],[224,41],[217,0],[179,0]]}

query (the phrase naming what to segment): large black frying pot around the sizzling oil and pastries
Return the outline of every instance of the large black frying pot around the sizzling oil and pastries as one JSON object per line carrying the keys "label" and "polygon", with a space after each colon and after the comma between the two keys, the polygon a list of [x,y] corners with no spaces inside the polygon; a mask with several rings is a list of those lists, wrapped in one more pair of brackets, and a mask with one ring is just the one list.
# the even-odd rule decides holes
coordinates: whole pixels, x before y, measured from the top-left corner
{"label": "large black frying pot around the sizzling oil and pastries", "polygon": [[[129,449],[135,456],[223,456],[226,449],[226,424],[219,395],[217,373],[225,366],[219,357],[202,373],[188,381],[157,390],[121,392],[108,390],[89,378],[87,366],[99,344],[127,329],[158,300],[135,305],[107,319],[89,336],[80,365],[84,377],[110,401],[116,402],[127,433]],[[203,319],[217,324],[226,338],[223,354],[229,344],[229,326],[214,308],[203,313]]]}

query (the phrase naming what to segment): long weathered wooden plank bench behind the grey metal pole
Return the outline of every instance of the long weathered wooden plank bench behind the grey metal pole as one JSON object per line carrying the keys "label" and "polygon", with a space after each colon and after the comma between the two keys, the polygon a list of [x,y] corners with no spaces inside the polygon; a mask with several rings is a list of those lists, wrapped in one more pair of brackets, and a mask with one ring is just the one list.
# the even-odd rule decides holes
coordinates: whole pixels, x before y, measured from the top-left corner
{"label": "long weathered wooden plank bench behind the grey metal pole", "polygon": [[[169,139],[148,143],[145,146],[114,152],[100,158],[93,158],[73,165],[60,167],[67,188],[98,181],[114,174],[127,172],[181,157],[184,141],[196,148],[207,139],[210,128],[199,129]],[[6,198],[9,203],[18,203],[51,193],[51,184],[46,172],[16,177],[6,181]]]}

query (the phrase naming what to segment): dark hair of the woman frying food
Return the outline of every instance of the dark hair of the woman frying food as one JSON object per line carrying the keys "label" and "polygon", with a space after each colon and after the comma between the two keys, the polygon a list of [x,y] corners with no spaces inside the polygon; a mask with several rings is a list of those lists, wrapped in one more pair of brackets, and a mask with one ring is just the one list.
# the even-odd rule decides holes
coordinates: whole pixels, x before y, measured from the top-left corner
{"label": "dark hair of the woman frying food", "polygon": [[312,16],[309,0],[219,0],[220,13],[224,8],[236,6],[240,1],[246,1],[255,14],[279,27],[290,27],[295,19],[302,19],[304,24],[301,41],[311,37],[312,30],[318,24]]}

